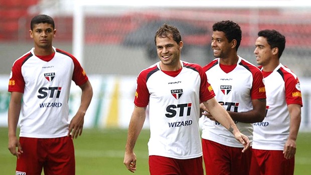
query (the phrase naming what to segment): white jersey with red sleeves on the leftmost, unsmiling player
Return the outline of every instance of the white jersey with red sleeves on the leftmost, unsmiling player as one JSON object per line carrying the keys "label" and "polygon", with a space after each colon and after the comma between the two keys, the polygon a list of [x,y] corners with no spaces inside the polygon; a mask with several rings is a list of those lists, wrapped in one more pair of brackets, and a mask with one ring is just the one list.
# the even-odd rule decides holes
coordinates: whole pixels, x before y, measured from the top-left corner
{"label": "white jersey with red sleeves on the leftmost, unsmiling player", "polygon": [[9,92],[23,94],[20,136],[57,138],[66,136],[69,126],[71,81],[84,84],[88,78],[70,54],[53,48],[54,57],[42,60],[34,48],[17,59],[12,67]]}

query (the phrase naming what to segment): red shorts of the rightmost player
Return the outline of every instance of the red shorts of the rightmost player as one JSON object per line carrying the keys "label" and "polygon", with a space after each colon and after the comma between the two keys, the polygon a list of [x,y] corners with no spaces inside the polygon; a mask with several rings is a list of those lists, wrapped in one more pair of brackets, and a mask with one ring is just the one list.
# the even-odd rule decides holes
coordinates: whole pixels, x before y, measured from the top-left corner
{"label": "red shorts of the rightmost player", "polygon": [[250,175],[293,175],[295,158],[286,159],[282,150],[253,149]]}

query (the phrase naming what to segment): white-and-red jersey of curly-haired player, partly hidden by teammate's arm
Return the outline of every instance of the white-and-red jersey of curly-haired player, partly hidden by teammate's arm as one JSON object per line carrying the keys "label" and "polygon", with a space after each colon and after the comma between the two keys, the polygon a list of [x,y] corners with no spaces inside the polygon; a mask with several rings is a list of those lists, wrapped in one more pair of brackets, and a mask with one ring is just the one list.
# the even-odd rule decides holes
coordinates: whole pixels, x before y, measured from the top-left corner
{"label": "white-and-red jersey of curly-haired player, partly hidden by teammate's arm", "polygon": [[[241,57],[239,57],[236,67],[228,73],[221,69],[219,58],[206,65],[203,70],[206,71],[208,81],[213,87],[216,100],[227,111],[246,112],[253,109],[252,99],[266,98],[262,73],[256,66]],[[252,124],[238,121],[235,121],[235,124],[241,133],[248,136],[252,142]],[[204,117],[202,128],[202,138],[204,139],[226,146],[244,147],[219,122]]]}

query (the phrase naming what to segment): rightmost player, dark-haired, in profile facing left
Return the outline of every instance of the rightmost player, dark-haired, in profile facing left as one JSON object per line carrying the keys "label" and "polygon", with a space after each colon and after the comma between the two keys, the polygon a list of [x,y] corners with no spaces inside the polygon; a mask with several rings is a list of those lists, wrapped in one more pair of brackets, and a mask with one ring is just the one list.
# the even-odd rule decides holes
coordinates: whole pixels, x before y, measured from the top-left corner
{"label": "rightmost player, dark-haired, in profile facing left", "polygon": [[254,54],[264,76],[266,117],[254,123],[251,175],[294,174],[302,98],[298,77],[280,63],[285,37],[275,30],[258,32]]}

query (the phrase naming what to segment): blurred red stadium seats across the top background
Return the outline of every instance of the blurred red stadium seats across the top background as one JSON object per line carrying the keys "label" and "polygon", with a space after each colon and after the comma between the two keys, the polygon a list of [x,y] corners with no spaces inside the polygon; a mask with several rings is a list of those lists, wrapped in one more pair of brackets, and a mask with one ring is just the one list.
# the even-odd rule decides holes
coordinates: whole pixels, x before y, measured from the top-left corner
{"label": "blurred red stadium seats across the top background", "polygon": [[[25,28],[29,28],[29,21],[33,16],[33,14],[29,14],[29,8],[37,5],[39,2],[39,0],[0,0],[0,41],[30,40],[28,30],[25,30]],[[260,20],[255,28],[250,23],[249,10],[222,10],[221,13],[217,10],[200,10],[199,12],[185,10],[183,12],[183,14],[198,16],[198,18],[199,16],[201,18],[206,17],[205,21],[179,19],[179,13],[171,13],[166,19],[163,19],[163,14],[160,16],[157,13],[146,11],[124,14],[123,16],[86,17],[85,42],[89,44],[121,44],[127,35],[139,30],[141,26],[157,20],[181,21],[210,31],[215,21],[230,19],[232,14],[235,14],[240,20],[239,24],[243,31],[242,47],[253,47],[257,31],[262,29],[279,30],[286,36],[286,47],[296,47],[297,45],[305,48],[311,47],[311,24],[297,23],[295,15],[290,15],[290,13],[275,12],[270,9],[260,10],[258,12]],[[216,13],[218,14],[215,15]],[[275,15],[277,15],[277,20]],[[302,15],[301,19],[311,18],[311,13],[303,13]],[[58,30],[57,41],[71,42],[73,33],[72,16],[56,16],[53,18]],[[283,24],[282,21],[287,21],[288,23]],[[205,38],[202,37],[202,34],[198,34],[184,35],[183,39],[190,45],[206,46],[209,44],[210,38]]]}

